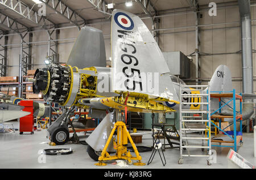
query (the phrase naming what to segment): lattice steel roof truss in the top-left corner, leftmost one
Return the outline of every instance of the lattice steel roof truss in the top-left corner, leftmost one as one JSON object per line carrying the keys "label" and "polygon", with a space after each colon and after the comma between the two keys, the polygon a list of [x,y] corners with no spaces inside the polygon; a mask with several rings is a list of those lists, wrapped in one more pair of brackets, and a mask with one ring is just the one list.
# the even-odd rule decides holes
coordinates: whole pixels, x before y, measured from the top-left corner
{"label": "lattice steel roof truss in the top-left corner, leftmost one", "polygon": [[22,16],[23,19],[30,21],[37,27],[42,27],[44,29],[47,29],[48,25],[55,27],[55,24],[48,20],[45,16],[39,16],[36,11],[32,10],[36,4],[30,8],[24,2],[19,0],[0,0],[0,5]]}

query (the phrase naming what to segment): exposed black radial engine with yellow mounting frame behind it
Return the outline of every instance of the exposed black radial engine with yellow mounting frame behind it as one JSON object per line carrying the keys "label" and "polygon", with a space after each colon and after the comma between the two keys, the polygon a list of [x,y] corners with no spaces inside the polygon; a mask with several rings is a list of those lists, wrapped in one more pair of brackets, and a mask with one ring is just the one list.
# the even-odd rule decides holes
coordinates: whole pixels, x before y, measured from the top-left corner
{"label": "exposed black radial engine with yellow mounting frame behind it", "polygon": [[81,98],[104,97],[97,91],[98,76],[103,74],[110,82],[110,68],[88,67],[79,69],[70,65],[51,63],[47,68],[37,69],[34,75],[33,92],[42,92],[46,102],[61,106],[82,106]]}

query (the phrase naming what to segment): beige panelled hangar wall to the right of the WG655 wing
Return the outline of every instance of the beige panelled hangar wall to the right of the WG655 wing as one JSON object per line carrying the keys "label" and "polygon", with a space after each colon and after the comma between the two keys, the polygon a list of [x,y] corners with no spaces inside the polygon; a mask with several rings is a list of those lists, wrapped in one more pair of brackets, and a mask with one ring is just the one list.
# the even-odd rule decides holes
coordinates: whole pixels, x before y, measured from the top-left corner
{"label": "beige panelled hangar wall to the right of the WG655 wing", "polygon": [[[213,72],[219,65],[229,67],[232,77],[240,79],[242,77],[241,35],[240,35],[240,13],[237,7],[217,9],[217,16],[209,16],[208,11],[201,12],[200,38],[201,53],[201,78],[211,78]],[[251,7],[251,19],[256,19],[256,8]],[[192,54],[196,48],[195,36],[195,14],[176,14],[164,17],[160,22],[160,29],[174,28],[168,31],[160,31],[160,47],[163,52],[181,51],[185,55]],[[225,23],[225,24],[224,24]],[[214,24],[214,25],[209,25]],[[255,49],[254,21],[252,21],[252,40]],[[192,27],[191,27],[192,26]],[[182,28],[187,27],[187,28]],[[192,56],[191,78],[195,78],[195,56]],[[253,53],[253,70],[255,70],[255,53]],[[205,84],[205,83],[204,83]],[[233,81],[236,92],[242,92],[242,82]],[[254,92],[255,92],[254,82]]]}

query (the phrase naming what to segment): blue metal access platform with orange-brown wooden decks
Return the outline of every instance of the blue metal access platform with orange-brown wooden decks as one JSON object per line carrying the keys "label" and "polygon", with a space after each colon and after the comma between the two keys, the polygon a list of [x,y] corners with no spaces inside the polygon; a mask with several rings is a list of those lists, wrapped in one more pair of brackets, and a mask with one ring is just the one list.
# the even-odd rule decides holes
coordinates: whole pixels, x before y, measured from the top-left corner
{"label": "blue metal access platform with orange-brown wooden decks", "polygon": [[[240,121],[240,132],[242,133],[242,96],[241,96],[241,93],[239,95],[236,94],[235,89],[233,89],[233,91],[213,91],[213,92],[211,92],[210,97],[218,98],[218,100],[219,100],[219,108],[215,112],[210,114],[211,118],[219,119],[219,126],[216,126],[213,122],[211,122],[211,123],[219,131],[224,133],[223,135],[218,134],[215,137],[221,139],[224,136],[228,136],[230,138],[230,141],[212,140],[212,142],[219,143],[219,145],[212,145],[212,146],[214,146],[214,147],[230,147],[230,148],[234,148],[234,151],[237,152],[237,128],[236,128],[237,120]],[[230,98],[230,100],[228,102],[224,102],[221,100],[221,98]],[[236,111],[236,100],[240,100],[240,112]],[[224,105],[221,105],[222,102],[224,103]],[[233,108],[229,105],[232,102],[233,102]],[[221,115],[221,109],[224,108],[225,106],[229,106],[229,108],[233,109],[233,115]],[[217,112],[219,114],[215,114]],[[226,131],[224,131],[227,127],[225,127],[224,129],[221,128],[221,122],[224,122],[224,118],[233,118],[233,122],[229,124],[229,126],[232,124],[234,125],[233,137],[230,136]],[[234,145],[221,145],[221,143],[234,143]],[[240,139],[240,144],[242,144],[242,139]]]}

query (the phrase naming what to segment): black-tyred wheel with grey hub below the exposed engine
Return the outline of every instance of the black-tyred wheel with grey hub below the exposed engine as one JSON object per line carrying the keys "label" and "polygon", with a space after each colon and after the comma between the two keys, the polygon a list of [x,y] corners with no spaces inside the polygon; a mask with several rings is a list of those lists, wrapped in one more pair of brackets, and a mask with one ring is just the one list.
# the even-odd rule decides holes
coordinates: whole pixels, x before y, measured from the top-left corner
{"label": "black-tyred wheel with grey hub below the exposed engine", "polygon": [[56,145],[63,145],[68,141],[68,139],[69,131],[67,130],[67,128],[64,127],[57,128],[51,136],[52,142]]}

